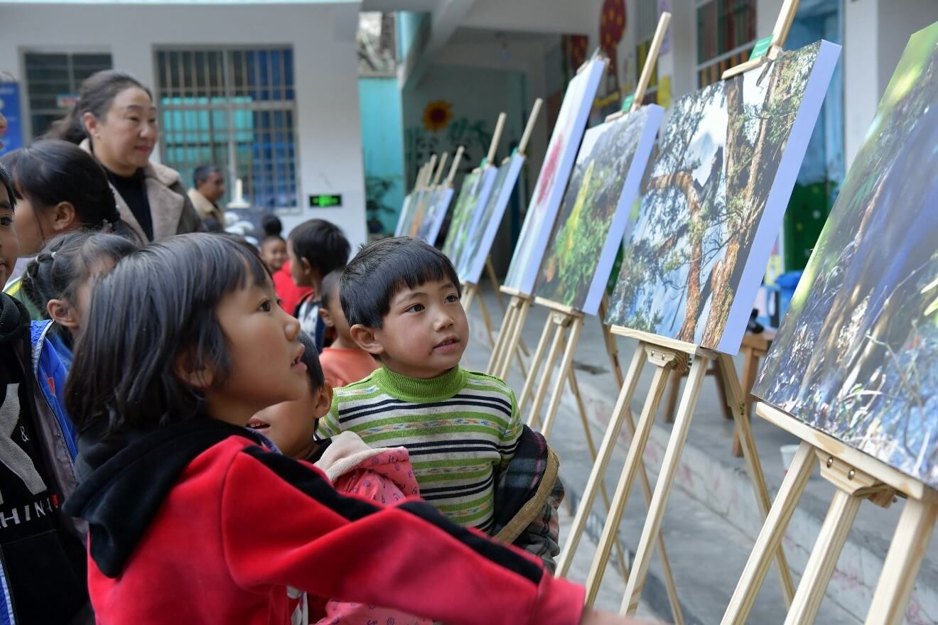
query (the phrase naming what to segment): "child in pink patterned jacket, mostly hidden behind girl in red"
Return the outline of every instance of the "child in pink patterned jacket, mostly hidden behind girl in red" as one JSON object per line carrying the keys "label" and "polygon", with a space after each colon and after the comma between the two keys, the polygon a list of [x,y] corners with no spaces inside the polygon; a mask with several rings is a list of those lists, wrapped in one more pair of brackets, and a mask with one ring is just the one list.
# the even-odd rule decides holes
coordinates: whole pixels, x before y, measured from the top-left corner
{"label": "child in pink patterned jacket, mostly hidden behind girl in red", "polygon": [[[310,378],[307,393],[296,401],[261,410],[248,426],[273,441],[281,453],[314,463],[340,493],[355,494],[383,504],[419,496],[410,455],[403,447],[371,449],[352,432],[342,432],[334,439],[315,439],[316,423],[332,403],[332,389],[323,375],[312,337],[301,332],[299,342],[306,349],[302,361]],[[400,610],[331,600],[325,604],[323,623],[334,622],[335,618],[346,625],[388,622],[431,625],[432,622]]]}

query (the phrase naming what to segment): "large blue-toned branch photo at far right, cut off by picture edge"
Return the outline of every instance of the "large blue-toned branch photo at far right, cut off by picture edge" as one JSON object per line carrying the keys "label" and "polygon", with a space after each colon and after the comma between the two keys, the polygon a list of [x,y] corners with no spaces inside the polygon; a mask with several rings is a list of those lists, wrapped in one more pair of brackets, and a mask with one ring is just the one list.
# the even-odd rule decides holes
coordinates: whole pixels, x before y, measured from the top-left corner
{"label": "large blue-toned branch photo at far right, cut off by picture edge", "polygon": [[909,41],[753,393],[938,487],[938,23]]}

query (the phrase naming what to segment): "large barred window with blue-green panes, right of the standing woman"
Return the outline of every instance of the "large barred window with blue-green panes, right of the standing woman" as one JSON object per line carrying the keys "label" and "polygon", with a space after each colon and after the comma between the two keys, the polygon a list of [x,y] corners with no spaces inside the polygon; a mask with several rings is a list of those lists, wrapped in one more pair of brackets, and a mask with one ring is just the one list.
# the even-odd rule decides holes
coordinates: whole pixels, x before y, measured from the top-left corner
{"label": "large barred window with blue-green panes, right of the standing woman", "polygon": [[298,209],[294,55],[288,47],[157,50],[163,160],[191,185],[227,172],[255,208]]}

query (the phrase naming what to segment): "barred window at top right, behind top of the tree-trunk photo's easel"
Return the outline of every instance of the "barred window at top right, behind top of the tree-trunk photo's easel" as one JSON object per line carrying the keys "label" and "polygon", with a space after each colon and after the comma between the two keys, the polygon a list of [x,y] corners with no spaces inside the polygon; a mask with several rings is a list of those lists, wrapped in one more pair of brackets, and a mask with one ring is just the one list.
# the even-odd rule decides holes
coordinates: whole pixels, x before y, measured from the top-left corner
{"label": "barred window at top right, behind top of the tree-trunk photo's easel", "polygon": [[697,83],[720,80],[749,59],[756,39],[756,0],[706,0],[697,5]]}

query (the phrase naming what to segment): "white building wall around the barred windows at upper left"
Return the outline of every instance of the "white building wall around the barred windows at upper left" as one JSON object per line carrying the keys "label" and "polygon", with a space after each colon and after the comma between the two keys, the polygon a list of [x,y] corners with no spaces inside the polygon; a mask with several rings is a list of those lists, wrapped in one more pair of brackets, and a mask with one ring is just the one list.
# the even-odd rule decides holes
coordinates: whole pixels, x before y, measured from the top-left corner
{"label": "white building wall around the barred windows at upper left", "polygon": [[[107,50],[116,68],[154,84],[160,45],[290,44],[295,57],[300,180],[287,230],[323,217],[353,249],[366,241],[355,34],[358,3],[327,5],[0,4],[0,69],[23,80],[24,50]],[[25,102],[23,102],[25,106]],[[340,193],[340,209],[310,210],[310,193]]]}

